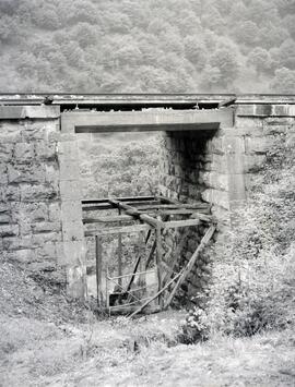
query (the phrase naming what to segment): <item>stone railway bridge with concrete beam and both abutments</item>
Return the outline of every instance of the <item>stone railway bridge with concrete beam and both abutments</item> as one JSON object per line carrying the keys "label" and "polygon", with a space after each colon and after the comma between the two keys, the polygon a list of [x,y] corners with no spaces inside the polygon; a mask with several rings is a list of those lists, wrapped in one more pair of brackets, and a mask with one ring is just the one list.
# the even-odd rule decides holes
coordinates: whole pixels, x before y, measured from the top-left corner
{"label": "stone railway bridge with concrete beam and both abutments", "polygon": [[247,199],[295,96],[1,95],[1,256],[67,281],[85,298],[78,133],[161,131],[162,194],[212,205],[220,225]]}

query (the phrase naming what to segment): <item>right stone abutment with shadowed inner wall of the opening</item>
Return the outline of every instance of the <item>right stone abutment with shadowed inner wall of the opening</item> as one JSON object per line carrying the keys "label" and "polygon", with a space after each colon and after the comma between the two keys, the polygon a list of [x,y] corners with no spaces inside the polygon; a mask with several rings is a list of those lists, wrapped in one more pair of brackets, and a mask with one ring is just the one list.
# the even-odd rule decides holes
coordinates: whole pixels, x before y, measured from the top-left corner
{"label": "right stone abutment with shadowed inner wall of the opening", "polygon": [[[164,195],[180,202],[204,201],[212,205],[222,242],[236,219],[233,211],[243,205],[252,181],[266,161],[267,152],[282,133],[295,141],[295,106],[248,104],[235,107],[234,128],[215,132],[164,133],[162,141],[162,186]],[[186,231],[178,263],[184,265],[196,250],[204,225]],[[174,250],[179,233],[165,242]],[[176,250],[175,250],[176,251]],[[189,298],[202,293],[210,277],[210,254],[197,262],[185,291]]]}

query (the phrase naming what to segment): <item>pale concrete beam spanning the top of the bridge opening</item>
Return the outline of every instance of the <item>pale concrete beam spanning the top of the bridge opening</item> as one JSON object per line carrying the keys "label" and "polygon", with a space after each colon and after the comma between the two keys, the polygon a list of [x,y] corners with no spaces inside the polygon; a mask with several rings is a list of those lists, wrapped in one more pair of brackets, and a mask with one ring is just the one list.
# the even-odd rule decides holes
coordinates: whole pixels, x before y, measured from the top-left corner
{"label": "pale concrete beam spanning the top of the bridge opening", "polygon": [[116,112],[64,112],[61,114],[63,132],[143,132],[217,130],[234,125],[232,108],[206,110],[165,110]]}

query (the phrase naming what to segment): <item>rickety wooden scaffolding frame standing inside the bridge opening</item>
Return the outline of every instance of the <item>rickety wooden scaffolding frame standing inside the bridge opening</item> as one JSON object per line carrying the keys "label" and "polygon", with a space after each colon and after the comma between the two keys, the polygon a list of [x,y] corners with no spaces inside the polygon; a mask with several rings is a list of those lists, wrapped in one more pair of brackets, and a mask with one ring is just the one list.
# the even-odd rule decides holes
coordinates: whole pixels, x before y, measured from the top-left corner
{"label": "rickety wooden scaffolding frame standing inside the bridge opening", "polygon": [[[201,202],[182,204],[164,196],[135,196],[85,199],[82,202],[82,208],[85,237],[95,238],[97,303],[109,314],[125,313],[132,317],[143,311],[149,313],[167,309],[216,230],[215,218],[210,215],[210,205]],[[118,215],[99,216],[99,211],[110,209],[116,209]],[[200,222],[205,225],[206,231],[190,259],[176,273],[175,259],[170,265],[163,261],[163,232],[168,229],[196,227]],[[125,233],[144,234],[145,246],[151,242],[152,235],[154,241],[145,256],[143,269],[142,254],[139,254],[131,273],[122,275],[121,238]],[[104,235],[117,235],[118,239],[118,275],[110,276],[106,270],[105,298],[102,289]],[[157,287],[153,294],[142,297],[144,283],[140,288],[134,288],[133,285],[137,278],[152,271],[152,264]],[[109,281],[114,283],[116,291],[109,292]],[[141,295],[138,295],[139,290]],[[115,305],[114,300],[117,301]]]}

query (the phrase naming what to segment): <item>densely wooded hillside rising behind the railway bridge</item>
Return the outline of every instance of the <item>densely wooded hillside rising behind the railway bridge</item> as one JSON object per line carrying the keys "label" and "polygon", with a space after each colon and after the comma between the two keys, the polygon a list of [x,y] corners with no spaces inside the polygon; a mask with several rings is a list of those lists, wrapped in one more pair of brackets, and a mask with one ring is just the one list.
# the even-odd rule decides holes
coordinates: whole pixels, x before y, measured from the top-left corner
{"label": "densely wooded hillside rising behind the railway bridge", "polygon": [[0,0],[2,92],[295,89],[294,0]]}

